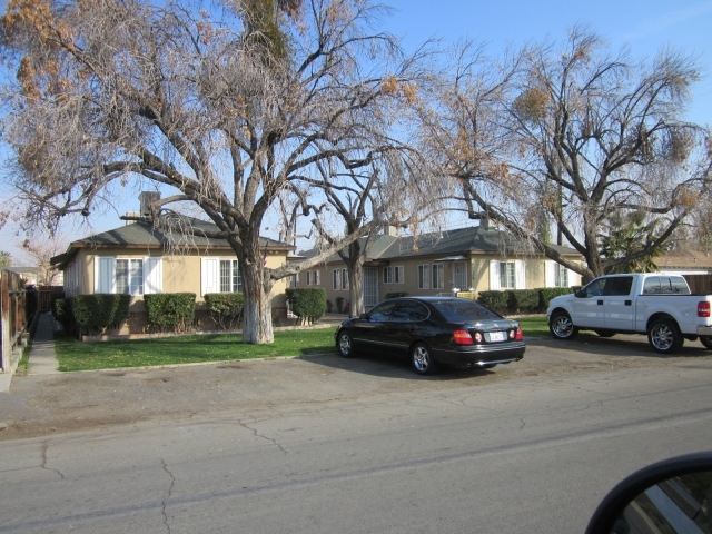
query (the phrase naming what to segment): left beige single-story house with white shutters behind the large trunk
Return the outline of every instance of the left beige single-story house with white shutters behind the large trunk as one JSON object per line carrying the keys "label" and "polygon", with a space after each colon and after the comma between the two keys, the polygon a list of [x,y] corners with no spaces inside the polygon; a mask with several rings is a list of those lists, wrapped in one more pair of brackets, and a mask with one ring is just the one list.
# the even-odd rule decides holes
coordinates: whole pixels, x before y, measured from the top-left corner
{"label": "left beige single-story house with white shutters behind the large trunk", "polygon": [[[120,334],[141,333],[146,328],[144,295],[154,293],[195,293],[198,326],[207,320],[201,315],[207,293],[241,290],[241,278],[235,253],[225,239],[206,235],[218,231],[216,225],[182,218],[189,235],[169,233],[145,221],[72,241],[67,251],[52,258],[65,275],[65,294],[129,294],[130,319]],[[265,265],[277,268],[286,264],[295,247],[274,239],[259,239]],[[286,280],[275,284],[271,293],[273,314],[287,317]]]}

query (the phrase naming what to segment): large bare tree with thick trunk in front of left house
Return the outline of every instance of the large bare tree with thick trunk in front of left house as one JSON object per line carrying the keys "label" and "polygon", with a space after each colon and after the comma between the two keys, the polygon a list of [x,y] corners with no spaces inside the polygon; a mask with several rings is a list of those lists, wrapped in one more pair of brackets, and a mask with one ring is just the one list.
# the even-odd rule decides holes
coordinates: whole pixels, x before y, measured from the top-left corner
{"label": "large bare tree with thick trunk in front of left house", "polygon": [[274,283],[388,215],[315,258],[268,269],[258,248],[265,214],[317,164],[358,169],[393,147],[388,109],[404,98],[394,85],[418,61],[370,32],[382,10],[366,0],[310,0],[300,11],[280,2],[298,21],[274,19],[287,53],[263,31],[273,22],[250,19],[264,12],[245,9],[255,3],[227,0],[219,14],[181,1],[11,3],[2,50],[18,83],[6,83],[3,131],[29,224],[89,216],[141,180],[171,191],[154,205],[157,225],[172,202],[197,205],[240,263],[244,339],[268,343]]}

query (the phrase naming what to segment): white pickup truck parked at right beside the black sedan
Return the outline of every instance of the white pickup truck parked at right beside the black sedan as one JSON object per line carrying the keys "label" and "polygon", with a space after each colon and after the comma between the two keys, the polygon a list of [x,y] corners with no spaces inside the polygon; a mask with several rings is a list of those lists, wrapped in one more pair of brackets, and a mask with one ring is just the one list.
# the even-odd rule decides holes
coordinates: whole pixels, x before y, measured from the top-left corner
{"label": "white pickup truck parked at right beside the black sedan", "polygon": [[684,339],[712,349],[712,295],[691,295],[682,276],[661,273],[610,275],[594,279],[572,295],[553,298],[546,310],[557,339],[580,329],[603,337],[616,333],[647,334],[659,353],[670,354]]}

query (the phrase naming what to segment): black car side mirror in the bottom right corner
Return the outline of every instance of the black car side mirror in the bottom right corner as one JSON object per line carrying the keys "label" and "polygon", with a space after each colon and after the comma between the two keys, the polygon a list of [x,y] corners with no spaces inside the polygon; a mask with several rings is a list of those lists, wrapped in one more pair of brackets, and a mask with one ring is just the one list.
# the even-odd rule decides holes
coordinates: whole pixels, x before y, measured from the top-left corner
{"label": "black car side mirror in the bottom right corner", "polygon": [[[649,465],[620,482],[593,513],[586,534],[712,533],[712,452]],[[660,530],[650,530],[656,525]]]}

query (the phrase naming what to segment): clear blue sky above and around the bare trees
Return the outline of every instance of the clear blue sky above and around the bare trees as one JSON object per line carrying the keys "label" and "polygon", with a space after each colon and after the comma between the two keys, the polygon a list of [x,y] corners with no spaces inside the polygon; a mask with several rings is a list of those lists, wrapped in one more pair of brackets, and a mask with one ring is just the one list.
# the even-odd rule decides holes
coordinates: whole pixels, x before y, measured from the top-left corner
{"label": "clear blue sky above and around the bare trees", "polygon": [[[382,21],[382,29],[403,37],[411,50],[428,38],[439,38],[444,46],[468,38],[485,42],[487,52],[497,56],[507,46],[518,48],[547,38],[560,41],[577,23],[604,38],[612,51],[627,46],[633,58],[652,58],[661,48],[672,47],[694,56],[702,69],[703,79],[694,87],[688,120],[712,126],[712,0],[390,0],[385,3],[392,6],[394,12]],[[6,197],[9,191],[0,194]],[[73,240],[122,225],[118,217],[138,208],[134,191],[125,197],[116,211],[92,218],[91,229],[68,227],[66,234]],[[464,220],[453,221],[453,226],[464,224]],[[17,228],[11,226],[1,230],[0,249],[16,254],[12,245],[20,239],[16,233]]]}

